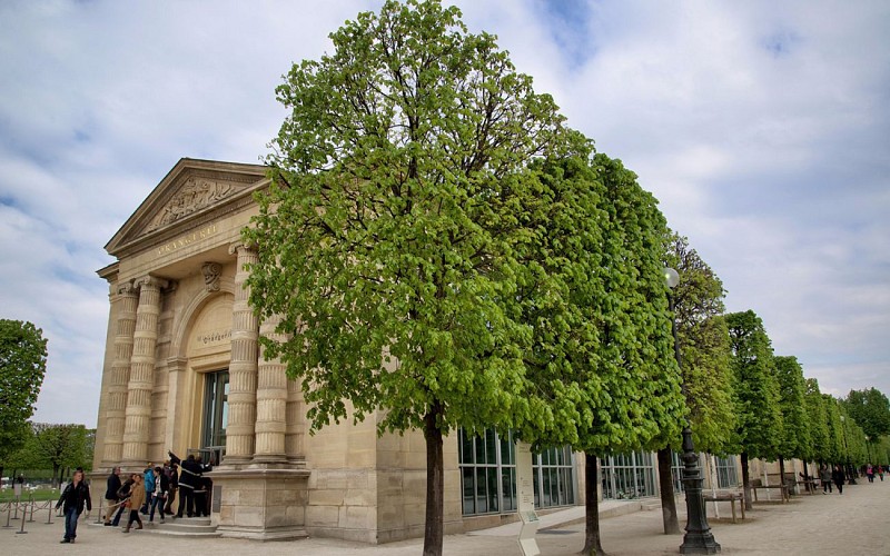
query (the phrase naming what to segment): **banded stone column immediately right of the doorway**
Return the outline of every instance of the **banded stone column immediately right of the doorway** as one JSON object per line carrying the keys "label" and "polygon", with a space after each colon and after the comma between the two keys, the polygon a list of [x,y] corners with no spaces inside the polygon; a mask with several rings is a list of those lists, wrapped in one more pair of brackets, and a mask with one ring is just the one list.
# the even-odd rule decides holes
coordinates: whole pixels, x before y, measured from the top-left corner
{"label": "banded stone column immediately right of the doorway", "polygon": [[254,426],[257,404],[257,354],[259,324],[248,304],[250,276],[245,265],[256,262],[257,254],[240,244],[229,248],[238,256],[235,270],[235,304],[231,315],[231,361],[229,363],[229,421],[226,427],[224,464],[243,464],[254,456]]}

